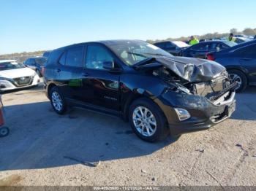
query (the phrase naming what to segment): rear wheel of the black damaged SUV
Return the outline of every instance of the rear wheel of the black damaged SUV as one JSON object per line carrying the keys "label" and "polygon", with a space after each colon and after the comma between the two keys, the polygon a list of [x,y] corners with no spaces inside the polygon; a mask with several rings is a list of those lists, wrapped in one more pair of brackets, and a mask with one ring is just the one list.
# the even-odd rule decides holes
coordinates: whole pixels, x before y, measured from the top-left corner
{"label": "rear wheel of the black damaged SUV", "polygon": [[57,86],[50,90],[50,104],[57,114],[64,114],[67,111],[67,104],[64,95]]}

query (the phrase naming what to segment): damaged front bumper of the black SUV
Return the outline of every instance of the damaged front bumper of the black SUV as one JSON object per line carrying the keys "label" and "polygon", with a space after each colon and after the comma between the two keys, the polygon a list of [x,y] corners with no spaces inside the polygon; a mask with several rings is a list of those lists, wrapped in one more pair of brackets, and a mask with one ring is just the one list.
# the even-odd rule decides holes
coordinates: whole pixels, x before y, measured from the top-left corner
{"label": "damaged front bumper of the black SUV", "polygon": [[205,97],[197,95],[181,95],[174,107],[186,109],[191,117],[188,120],[179,121],[176,112],[172,111],[174,109],[167,112],[170,133],[176,136],[183,133],[206,130],[226,120],[236,109],[235,95],[234,91],[230,91],[228,96],[223,95],[227,96],[225,100],[215,101],[214,103],[208,101]]}

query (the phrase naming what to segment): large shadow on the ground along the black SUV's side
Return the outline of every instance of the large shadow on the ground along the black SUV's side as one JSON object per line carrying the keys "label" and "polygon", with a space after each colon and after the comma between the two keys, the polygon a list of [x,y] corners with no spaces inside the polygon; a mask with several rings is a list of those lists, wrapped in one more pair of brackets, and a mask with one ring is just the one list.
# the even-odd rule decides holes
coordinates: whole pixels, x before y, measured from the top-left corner
{"label": "large shadow on the ground along the black SUV's side", "polygon": [[60,116],[48,101],[6,106],[5,111],[10,135],[0,139],[0,171],[94,167],[99,161],[151,155],[176,141],[141,141],[127,122],[84,109]]}

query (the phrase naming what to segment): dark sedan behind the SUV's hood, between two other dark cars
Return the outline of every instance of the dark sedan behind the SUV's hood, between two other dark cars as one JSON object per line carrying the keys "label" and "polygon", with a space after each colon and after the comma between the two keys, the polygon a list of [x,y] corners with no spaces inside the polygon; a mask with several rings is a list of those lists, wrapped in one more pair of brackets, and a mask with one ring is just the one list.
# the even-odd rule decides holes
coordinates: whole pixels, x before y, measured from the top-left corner
{"label": "dark sedan behind the SUV's hood, between two other dark cars", "polygon": [[182,56],[205,59],[208,52],[220,51],[236,45],[236,42],[228,41],[200,42],[184,50]]}

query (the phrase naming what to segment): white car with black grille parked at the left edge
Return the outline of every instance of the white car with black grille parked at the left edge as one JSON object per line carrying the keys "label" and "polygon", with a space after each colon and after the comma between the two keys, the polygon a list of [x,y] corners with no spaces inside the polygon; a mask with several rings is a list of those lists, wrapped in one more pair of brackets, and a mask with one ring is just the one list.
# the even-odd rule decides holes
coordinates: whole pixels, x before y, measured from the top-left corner
{"label": "white car with black grille parked at the left edge", "polygon": [[40,79],[38,74],[15,60],[0,61],[0,90],[34,87]]}

